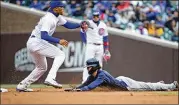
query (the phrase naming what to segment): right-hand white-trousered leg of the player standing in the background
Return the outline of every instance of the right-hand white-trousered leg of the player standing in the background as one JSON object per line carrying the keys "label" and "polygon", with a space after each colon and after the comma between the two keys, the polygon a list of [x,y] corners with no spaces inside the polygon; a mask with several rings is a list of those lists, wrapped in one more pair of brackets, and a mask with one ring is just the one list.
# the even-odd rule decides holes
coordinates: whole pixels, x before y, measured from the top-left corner
{"label": "right-hand white-trousered leg of the player standing in the background", "polygon": [[103,67],[103,54],[104,48],[103,45],[96,46],[95,58],[99,60],[100,66]]}

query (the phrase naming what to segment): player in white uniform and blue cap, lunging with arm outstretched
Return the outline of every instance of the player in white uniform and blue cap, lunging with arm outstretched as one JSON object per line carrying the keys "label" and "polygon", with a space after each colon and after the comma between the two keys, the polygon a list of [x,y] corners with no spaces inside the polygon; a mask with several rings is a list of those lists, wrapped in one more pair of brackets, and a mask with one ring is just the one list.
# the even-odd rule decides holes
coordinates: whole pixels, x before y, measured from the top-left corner
{"label": "player in white uniform and blue cap, lunging with arm outstretched", "polygon": [[61,44],[66,47],[68,42],[65,39],[59,39],[52,35],[56,26],[62,25],[68,29],[80,27],[80,24],[71,23],[65,20],[62,16],[63,14],[64,4],[60,1],[52,1],[50,3],[49,11],[40,19],[35,29],[32,31],[31,36],[27,41],[27,49],[33,57],[36,67],[28,77],[17,85],[17,91],[33,91],[28,87],[47,71],[46,57],[54,58],[54,61],[44,84],[55,88],[62,87],[62,85],[57,83],[55,79],[59,67],[64,62],[65,54],[51,43]]}

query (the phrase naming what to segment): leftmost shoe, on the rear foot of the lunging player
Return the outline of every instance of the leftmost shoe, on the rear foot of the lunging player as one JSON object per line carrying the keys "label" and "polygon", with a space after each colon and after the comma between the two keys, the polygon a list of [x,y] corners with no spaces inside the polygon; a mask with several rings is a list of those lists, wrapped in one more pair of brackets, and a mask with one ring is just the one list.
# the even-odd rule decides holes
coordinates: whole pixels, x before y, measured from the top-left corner
{"label": "leftmost shoe, on the rear foot of the lunging player", "polygon": [[26,84],[19,83],[16,87],[16,91],[18,92],[33,92],[33,89],[27,88]]}

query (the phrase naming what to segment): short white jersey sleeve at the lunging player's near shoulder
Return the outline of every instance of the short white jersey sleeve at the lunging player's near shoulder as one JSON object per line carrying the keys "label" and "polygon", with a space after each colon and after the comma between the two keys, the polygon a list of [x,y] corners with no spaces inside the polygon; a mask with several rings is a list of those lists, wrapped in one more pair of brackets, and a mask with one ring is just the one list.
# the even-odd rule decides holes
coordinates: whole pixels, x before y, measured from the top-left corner
{"label": "short white jersey sleeve at the lunging player's near shoulder", "polygon": [[50,28],[53,26],[53,21],[51,20],[47,20],[44,18],[44,21],[43,24],[42,24],[42,27],[41,27],[41,30],[40,31],[46,31],[47,33],[49,33],[50,31]]}

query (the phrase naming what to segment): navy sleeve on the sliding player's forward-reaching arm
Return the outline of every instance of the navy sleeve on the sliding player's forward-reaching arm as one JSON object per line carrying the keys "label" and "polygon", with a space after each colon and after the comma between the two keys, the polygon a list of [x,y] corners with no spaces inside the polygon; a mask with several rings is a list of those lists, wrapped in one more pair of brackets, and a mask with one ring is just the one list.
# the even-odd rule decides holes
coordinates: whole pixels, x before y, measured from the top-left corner
{"label": "navy sleeve on the sliding player's forward-reaching arm", "polygon": [[94,81],[91,82],[89,85],[84,86],[84,87],[82,87],[82,88],[80,88],[80,89],[81,89],[82,91],[89,91],[89,90],[92,90],[92,89],[98,87],[98,86],[101,85],[103,82],[104,82],[103,75],[99,75],[96,80],[94,80]]}

